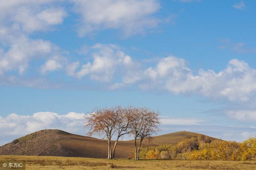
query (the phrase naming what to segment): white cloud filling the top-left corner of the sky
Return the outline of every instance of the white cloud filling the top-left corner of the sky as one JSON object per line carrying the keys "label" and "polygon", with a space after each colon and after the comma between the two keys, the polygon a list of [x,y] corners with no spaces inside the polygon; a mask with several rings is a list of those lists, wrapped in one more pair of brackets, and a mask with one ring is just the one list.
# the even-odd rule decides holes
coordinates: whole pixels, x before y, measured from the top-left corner
{"label": "white cloud filling the top-left corner of the sky", "polygon": [[20,24],[24,32],[47,30],[50,26],[62,23],[63,18],[67,16],[64,9],[54,7],[53,2],[53,0],[9,0],[8,2],[1,2],[1,24]]}

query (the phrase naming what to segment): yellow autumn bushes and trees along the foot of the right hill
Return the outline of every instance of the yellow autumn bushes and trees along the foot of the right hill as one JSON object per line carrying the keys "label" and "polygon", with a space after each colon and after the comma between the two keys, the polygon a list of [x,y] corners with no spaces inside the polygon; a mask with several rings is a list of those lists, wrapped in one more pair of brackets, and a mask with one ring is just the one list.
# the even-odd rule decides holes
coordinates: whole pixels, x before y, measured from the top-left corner
{"label": "yellow autumn bushes and trees along the foot of the right hill", "polygon": [[188,160],[256,160],[256,138],[244,142],[211,140],[199,135],[176,145],[144,147],[141,158]]}

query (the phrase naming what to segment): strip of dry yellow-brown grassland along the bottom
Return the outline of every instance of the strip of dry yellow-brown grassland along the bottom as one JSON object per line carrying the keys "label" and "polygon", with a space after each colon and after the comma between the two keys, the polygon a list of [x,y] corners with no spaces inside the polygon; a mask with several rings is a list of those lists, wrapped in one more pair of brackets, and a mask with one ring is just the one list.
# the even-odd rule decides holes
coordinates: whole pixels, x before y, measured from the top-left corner
{"label": "strip of dry yellow-brown grassland along the bottom", "polygon": [[[255,170],[256,162],[197,160],[106,160],[54,156],[0,156],[4,160],[25,161],[26,170]],[[4,170],[0,165],[0,170]],[[2,168],[2,169],[1,169]]]}

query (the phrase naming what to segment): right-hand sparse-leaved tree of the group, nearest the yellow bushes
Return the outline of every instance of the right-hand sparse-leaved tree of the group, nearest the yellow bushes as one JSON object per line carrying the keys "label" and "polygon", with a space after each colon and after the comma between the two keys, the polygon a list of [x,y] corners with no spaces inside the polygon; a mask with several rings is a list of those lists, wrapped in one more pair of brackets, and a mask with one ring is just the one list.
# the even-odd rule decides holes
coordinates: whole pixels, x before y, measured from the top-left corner
{"label": "right-hand sparse-leaved tree of the group, nearest the yellow bushes", "polygon": [[150,140],[152,135],[156,134],[160,119],[158,112],[149,108],[132,108],[130,114],[132,115],[130,132],[134,136],[135,160],[139,160],[142,141]]}

